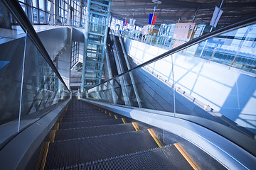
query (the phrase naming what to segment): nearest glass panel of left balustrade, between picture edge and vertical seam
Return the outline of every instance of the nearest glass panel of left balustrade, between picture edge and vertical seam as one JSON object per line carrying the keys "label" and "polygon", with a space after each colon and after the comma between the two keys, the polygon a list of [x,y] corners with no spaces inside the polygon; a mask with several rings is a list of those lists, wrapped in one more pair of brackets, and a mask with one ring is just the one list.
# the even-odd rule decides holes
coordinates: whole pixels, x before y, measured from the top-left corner
{"label": "nearest glass panel of left balustrade, between picture edge and vertical seam", "polygon": [[1,1],[0,18],[0,144],[2,144],[18,132],[25,33]]}

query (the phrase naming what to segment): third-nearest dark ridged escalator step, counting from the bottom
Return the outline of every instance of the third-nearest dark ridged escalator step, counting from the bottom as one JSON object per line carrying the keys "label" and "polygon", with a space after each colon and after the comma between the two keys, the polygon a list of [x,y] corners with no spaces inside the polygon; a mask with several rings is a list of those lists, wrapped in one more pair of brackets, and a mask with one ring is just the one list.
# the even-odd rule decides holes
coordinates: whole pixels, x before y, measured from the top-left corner
{"label": "third-nearest dark ridged escalator step, counting from the bottom", "polygon": [[57,130],[55,132],[55,141],[78,139],[82,137],[93,137],[99,135],[108,135],[130,131],[135,131],[132,123],[92,126],[87,128],[74,128],[68,130]]}

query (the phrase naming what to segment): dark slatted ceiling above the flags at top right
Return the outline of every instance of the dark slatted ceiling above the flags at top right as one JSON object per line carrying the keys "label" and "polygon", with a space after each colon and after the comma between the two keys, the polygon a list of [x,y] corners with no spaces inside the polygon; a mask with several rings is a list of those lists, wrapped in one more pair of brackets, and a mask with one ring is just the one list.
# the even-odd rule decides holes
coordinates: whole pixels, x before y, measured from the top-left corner
{"label": "dark slatted ceiling above the flags at top right", "polygon": [[[221,0],[160,0],[155,15],[156,25],[161,23],[194,22],[210,23],[215,6]],[[136,25],[145,26],[149,21],[149,13],[153,13],[151,0],[112,0],[111,13],[120,19],[136,19]],[[221,9],[224,11],[218,28],[256,16],[256,0],[226,0]]]}

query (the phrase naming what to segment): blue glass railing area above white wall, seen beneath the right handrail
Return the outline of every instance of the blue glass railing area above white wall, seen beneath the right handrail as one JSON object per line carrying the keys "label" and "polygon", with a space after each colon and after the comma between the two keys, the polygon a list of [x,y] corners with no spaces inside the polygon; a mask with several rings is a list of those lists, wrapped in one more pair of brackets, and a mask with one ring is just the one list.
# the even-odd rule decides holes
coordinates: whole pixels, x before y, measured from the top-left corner
{"label": "blue glass railing area above white wall, seen beneath the right handrail", "polygon": [[209,62],[218,62],[228,67],[256,73],[256,25],[247,26],[201,42],[199,47],[189,50],[195,57]]}

